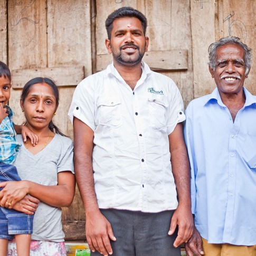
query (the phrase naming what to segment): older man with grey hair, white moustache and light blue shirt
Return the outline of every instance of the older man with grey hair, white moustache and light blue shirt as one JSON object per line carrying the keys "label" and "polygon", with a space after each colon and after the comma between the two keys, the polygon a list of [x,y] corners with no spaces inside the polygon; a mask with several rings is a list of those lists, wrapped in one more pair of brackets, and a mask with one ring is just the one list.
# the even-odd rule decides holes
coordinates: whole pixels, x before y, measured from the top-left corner
{"label": "older man with grey hair, white moustache and light blue shirt", "polygon": [[196,227],[187,255],[255,256],[256,97],[243,87],[251,49],[228,36],[208,53],[217,88],[186,110]]}

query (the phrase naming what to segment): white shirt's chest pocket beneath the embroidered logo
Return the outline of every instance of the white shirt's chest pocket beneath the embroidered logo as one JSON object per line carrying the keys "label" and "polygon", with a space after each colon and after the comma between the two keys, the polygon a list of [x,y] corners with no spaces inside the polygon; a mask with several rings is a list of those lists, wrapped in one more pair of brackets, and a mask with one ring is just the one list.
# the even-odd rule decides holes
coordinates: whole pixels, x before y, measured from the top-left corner
{"label": "white shirt's chest pocket beneath the embroidered logo", "polygon": [[154,129],[162,129],[166,127],[166,113],[168,108],[168,102],[163,99],[149,98],[149,124]]}

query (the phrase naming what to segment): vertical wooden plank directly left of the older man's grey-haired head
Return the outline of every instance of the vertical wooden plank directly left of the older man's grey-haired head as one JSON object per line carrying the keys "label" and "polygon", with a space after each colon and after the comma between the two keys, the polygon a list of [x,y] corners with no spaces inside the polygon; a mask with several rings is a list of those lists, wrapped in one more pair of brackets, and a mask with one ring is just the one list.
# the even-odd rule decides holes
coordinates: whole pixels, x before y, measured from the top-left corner
{"label": "vertical wooden plank directly left of the older man's grey-haired head", "polygon": [[215,41],[215,1],[191,0],[194,97],[211,93],[215,82],[208,71],[208,46]]}

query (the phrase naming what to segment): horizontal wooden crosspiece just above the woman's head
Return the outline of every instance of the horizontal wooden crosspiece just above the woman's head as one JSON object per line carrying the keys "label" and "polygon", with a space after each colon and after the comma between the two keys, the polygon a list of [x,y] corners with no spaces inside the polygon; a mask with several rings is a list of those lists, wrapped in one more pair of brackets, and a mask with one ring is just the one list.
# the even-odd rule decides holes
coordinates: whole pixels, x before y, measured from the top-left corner
{"label": "horizontal wooden crosspiece just above the woman's head", "polygon": [[53,79],[58,86],[76,86],[84,79],[83,66],[20,69],[12,71],[12,88],[23,88],[25,83],[35,77],[48,77]]}

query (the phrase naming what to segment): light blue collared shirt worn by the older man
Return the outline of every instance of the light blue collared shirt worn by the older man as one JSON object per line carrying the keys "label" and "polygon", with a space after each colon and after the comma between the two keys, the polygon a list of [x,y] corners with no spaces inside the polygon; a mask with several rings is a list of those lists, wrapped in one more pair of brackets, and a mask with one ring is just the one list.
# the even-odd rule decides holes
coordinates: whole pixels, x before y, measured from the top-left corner
{"label": "light blue collared shirt worn by the older man", "polygon": [[192,212],[209,243],[256,244],[256,97],[244,93],[234,122],[217,89],[186,109]]}

